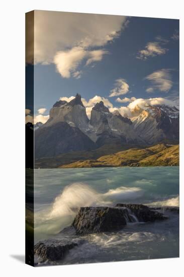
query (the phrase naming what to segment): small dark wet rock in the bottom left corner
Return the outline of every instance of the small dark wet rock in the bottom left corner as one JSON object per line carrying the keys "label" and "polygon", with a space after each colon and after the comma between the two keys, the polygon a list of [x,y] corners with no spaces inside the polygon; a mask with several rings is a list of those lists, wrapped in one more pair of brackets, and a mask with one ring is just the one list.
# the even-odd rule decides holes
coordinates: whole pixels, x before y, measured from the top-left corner
{"label": "small dark wet rock in the bottom left corner", "polygon": [[56,261],[62,259],[70,249],[77,245],[76,242],[66,240],[44,240],[34,246],[34,253],[43,261]]}

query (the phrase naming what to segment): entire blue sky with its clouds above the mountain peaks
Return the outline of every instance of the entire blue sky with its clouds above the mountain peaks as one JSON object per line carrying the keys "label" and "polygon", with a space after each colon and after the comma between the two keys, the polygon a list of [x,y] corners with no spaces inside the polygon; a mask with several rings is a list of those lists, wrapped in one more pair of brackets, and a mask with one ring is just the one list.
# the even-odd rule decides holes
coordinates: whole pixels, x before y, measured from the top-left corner
{"label": "entire blue sky with its clouds above the mountain peaks", "polygon": [[86,102],[104,97],[111,108],[135,98],[178,101],[178,20],[75,15],[71,22],[71,13],[36,12],[35,28],[40,24],[43,33],[35,33],[35,116],[47,116],[60,97],[76,93]]}

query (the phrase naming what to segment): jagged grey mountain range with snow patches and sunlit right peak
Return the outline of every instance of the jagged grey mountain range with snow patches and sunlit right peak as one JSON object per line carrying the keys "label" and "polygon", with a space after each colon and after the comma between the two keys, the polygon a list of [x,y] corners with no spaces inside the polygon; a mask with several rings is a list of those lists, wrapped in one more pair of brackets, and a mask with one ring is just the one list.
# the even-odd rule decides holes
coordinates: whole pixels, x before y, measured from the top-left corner
{"label": "jagged grey mountain range with snow patches and sunlit right peak", "polygon": [[[57,101],[50,109],[48,121],[34,129],[36,159],[95,151],[108,145],[128,149],[162,142],[178,144],[179,110],[175,106],[136,105],[128,117],[118,110],[110,112],[100,101],[89,119],[81,96],[76,94],[70,102]],[[109,154],[106,149],[104,154]]]}

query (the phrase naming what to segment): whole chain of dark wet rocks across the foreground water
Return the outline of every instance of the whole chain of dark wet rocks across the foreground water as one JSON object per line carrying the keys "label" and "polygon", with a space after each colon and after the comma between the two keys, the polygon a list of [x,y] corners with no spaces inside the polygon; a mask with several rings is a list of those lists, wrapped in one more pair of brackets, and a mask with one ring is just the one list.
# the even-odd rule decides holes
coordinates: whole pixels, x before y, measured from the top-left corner
{"label": "whole chain of dark wet rocks across the foreground water", "polygon": [[120,231],[127,222],[154,222],[167,219],[161,212],[178,214],[179,207],[149,207],[143,204],[125,203],[118,203],[115,207],[80,207],[72,225],[60,232],[62,238],[38,242],[34,246],[34,254],[38,257],[38,262],[60,263],[70,249],[86,242],[83,235]]}

